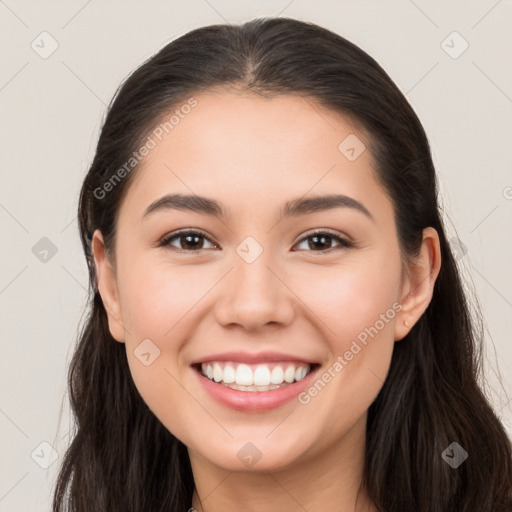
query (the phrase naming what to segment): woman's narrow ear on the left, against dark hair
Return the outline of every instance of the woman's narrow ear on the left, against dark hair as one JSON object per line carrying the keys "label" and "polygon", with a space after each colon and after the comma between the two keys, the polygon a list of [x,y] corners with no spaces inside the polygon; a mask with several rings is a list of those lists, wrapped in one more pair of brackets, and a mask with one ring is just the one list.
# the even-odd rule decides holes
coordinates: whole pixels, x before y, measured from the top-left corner
{"label": "woman's narrow ear on the left, against dark hair", "polygon": [[105,242],[100,230],[96,230],[92,238],[92,252],[98,280],[98,291],[107,311],[108,327],[112,337],[123,343],[125,329],[122,323],[119,293],[115,271],[105,253]]}

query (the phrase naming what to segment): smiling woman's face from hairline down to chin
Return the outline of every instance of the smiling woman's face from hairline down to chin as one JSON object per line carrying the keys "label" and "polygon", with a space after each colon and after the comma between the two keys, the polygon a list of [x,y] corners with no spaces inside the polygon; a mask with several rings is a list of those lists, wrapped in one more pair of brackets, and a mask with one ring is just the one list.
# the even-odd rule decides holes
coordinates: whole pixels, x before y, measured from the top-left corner
{"label": "smiling woman's face from hairline down to chin", "polygon": [[[95,233],[100,292],[142,398],[191,453],[286,468],[364,422],[404,312],[412,325],[428,300],[404,302],[392,204],[347,119],[292,95],[195,98],[121,204],[115,272]],[[145,213],[167,194],[218,211]],[[293,208],[333,194],[345,202]]]}

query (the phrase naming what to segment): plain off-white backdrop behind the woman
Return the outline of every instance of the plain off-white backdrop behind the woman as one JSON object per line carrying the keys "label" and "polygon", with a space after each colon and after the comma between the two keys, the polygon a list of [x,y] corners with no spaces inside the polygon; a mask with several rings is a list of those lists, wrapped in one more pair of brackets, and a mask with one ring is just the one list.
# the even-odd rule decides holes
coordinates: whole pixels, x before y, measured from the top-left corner
{"label": "plain off-white backdrop behind the woman", "polygon": [[512,434],[512,1],[5,0],[0,512],[50,510],[69,442],[66,372],[87,289],[77,199],[106,105],[172,39],[259,16],[312,21],[346,37],[417,112],[449,237],[485,316],[488,393]]}

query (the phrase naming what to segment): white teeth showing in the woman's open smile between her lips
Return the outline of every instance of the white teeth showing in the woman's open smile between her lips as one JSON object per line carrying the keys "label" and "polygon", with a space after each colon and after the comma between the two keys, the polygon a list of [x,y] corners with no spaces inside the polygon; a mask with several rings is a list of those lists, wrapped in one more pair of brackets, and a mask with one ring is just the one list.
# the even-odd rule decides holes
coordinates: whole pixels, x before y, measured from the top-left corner
{"label": "white teeth showing in the woman's open smile between her lips", "polygon": [[210,381],[238,391],[271,391],[301,381],[318,364],[274,362],[245,364],[210,361],[194,368]]}

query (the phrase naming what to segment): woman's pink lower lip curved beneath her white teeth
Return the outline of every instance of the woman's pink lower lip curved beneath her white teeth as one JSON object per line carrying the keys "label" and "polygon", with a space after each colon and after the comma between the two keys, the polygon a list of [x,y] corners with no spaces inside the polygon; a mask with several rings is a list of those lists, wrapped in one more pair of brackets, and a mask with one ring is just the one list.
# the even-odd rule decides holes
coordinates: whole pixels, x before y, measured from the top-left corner
{"label": "woman's pink lower lip curved beneath her white teeth", "polygon": [[239,391],[211,381],[196,369],[194,369],[194,372],[198,375],[206,391],[208,391],[217,402],[238,411],[260,412],[275,409],[293,400],[310,385],[317,370],[318,367],[313,369],[306,377],[298,382],[270,391]]}

